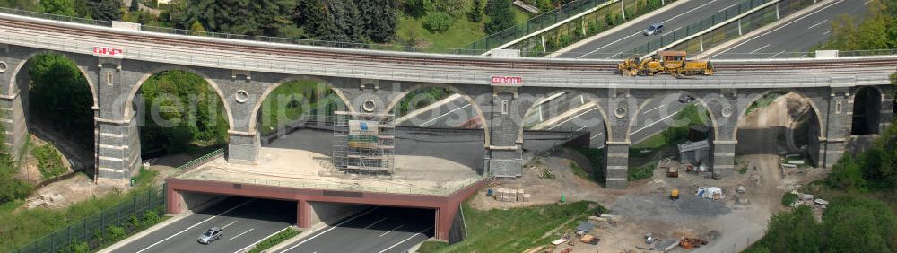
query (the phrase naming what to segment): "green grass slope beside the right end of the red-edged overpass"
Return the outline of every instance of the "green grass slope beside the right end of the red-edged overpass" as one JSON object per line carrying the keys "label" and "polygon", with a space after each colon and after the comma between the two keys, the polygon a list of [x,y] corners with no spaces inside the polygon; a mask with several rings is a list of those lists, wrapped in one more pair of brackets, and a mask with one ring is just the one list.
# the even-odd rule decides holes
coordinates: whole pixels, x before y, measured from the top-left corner
{"label": "green grass slope beside the right end of the red-edged overpass", "polygon": [[[585,221],[593,211],[588,208],[590,204],[594,203],[580,201],[482,211],[465,202],[466,240],[452,245],[427,241],[419,252],[522,252],[557,240],[563,231],[570,231]],[[560,230],[555,230],[559,227]]]}

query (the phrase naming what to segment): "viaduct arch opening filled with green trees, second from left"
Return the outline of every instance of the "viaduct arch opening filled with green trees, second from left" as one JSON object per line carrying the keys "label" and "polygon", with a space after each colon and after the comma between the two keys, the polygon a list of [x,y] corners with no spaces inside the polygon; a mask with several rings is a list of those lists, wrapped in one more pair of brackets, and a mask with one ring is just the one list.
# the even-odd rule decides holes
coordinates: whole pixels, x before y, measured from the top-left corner
{"label": "viaduct arch opening filled with green trees, second from left", "polygon": [[205,76],[163,69],[144,76],[132,94],[124,115],[137,120],[141,158],[152,165],[146,169],[166,170],[228,144],[230,113]]}

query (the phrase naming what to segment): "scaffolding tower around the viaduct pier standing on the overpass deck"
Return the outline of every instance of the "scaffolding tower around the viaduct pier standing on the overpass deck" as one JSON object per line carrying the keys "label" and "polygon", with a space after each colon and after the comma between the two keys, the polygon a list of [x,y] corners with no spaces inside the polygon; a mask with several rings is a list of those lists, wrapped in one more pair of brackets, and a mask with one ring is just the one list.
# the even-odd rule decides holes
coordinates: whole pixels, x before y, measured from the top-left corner
{"label": "scaffolding tower around the viaduct pier standing on the overpass deck", "polygon": [[392,175],[395,114],[335,111],[334,117],[332,172]]}

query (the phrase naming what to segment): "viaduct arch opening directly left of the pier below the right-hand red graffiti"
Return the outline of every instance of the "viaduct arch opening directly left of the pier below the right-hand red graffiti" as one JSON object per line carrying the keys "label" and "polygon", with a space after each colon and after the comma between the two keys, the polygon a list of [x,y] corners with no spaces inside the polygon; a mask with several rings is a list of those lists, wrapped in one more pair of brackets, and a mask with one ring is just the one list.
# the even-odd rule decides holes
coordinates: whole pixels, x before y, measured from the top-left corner
{"label": "viaduct arch opening directly left of the pier below the right-hand red graffiti", "polygon": [[396,170],[416,170],[424,178],[439,175],[446,181],[483,173],[489,126],[483,124],[483,110],[464,92],[449,85],[420,84],[389,101],[383,111],[395,113]]}

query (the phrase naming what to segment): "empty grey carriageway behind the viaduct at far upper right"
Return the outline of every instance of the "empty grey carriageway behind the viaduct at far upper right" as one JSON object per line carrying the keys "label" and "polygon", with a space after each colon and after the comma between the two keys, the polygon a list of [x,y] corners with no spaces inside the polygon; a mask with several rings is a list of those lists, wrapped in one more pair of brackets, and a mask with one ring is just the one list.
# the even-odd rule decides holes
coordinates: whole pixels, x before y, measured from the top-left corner
{"label": "empty grey carriageway behind the viaduct at far upper right", "polygon": [[708,58],[806,57],[808,49],[824,42],[832,33],[832,20],[840,14],[862,17],[869,0],[838,0],[822,9],[772,28]]}

